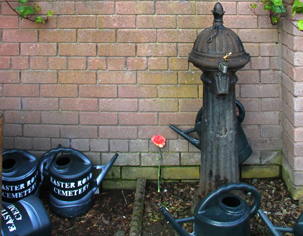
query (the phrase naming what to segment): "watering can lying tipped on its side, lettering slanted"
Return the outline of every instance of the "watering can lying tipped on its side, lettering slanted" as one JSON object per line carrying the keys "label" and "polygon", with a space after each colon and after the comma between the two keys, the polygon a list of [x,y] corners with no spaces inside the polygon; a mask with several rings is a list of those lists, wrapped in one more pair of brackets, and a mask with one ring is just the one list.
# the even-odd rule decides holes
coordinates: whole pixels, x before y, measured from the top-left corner
{"label": "watering can lying tipped on its side, lettering slanted", "polygon": [[2,202],[2,236],[49,236],[51,222],[42,201],[28,196],[15,203]]}

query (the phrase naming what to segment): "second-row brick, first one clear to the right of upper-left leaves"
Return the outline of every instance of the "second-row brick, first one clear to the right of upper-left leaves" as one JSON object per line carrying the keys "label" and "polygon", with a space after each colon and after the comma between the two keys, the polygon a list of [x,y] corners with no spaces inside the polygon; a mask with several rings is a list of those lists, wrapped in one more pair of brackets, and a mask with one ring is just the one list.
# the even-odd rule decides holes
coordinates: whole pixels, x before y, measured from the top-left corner
{"label": "second-row brick, first one clear to the right of upper-left leaves", "polygon": [[59,16],[59,28],[95,28],[96,17],[92,15]]}

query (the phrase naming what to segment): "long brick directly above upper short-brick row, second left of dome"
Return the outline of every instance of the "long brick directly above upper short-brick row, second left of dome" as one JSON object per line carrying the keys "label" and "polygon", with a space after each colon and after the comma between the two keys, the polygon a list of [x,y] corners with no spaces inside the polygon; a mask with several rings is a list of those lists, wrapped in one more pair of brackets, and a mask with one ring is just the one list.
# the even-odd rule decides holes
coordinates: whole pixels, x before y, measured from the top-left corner
{"label": "long brick directly above upper short-brick row, second left of dome", "polygon": [[137,56],[177,56],[177,45],[175,43],[137,44]]}

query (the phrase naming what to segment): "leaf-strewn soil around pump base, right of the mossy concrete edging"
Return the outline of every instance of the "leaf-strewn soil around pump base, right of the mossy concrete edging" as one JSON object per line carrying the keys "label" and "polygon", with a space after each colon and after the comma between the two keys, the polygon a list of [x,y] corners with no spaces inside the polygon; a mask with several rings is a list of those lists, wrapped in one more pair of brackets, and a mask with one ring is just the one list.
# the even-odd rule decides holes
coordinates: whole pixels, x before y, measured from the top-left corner
{"label": "leaf-strewn soil around pump base, right of the mossy concrete edging", "polygon": [[[298,201],[292,200],[283,181],[278,179],[243,179],[244,182],[255,186],[261,194],[261,210],[275,226],[293,227],[301,214]],[[176,231],[158,211],[161,205],[169,209],[176,218],[192,216],[191,206],[193,194],[198,182],[176,183],[170,182],[161,185],[158,193],[157,183],[147,182],[145,191],[145,208],[143,213],[142,236],[175,236]],[[251,204],[252,196],[246,194],[246,201]],[[191,233],[193,224],[183,224]],[[285,234],[293,235],[293,234]],[[251,236],[271,236],[265,224],[255,215],[251,219]]]}

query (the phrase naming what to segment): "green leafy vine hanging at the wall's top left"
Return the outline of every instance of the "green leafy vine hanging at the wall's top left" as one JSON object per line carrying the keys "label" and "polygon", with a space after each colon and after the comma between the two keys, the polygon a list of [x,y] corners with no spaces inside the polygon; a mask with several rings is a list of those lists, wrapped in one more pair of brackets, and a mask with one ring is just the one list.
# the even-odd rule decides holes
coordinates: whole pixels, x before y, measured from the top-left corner
{"label": "green leafy vine hanging at the wall's top left", "polygon": [[7,0],[5,0],[5,2],[7,2],[9,7],[21,17],[21,20],[24,18],[29,21],[34,21],[36,23],[44,24],[47,21],[48,17],[53,15],[53,11],[50,10],[49,12],[46,13],[45,19],[43,19],[42,16],[36,16],[35,19],[33,20],[31,18],[34,15],[34,13],[40,11],[40,6],[38,6],[37,3],[34,3],[34,7],[31,7],[31,6],[25,5],[25,3],[28,2],[28,0],[18,0],[18,6],[15,7],[15,9],[14,9],[8,3]]}

